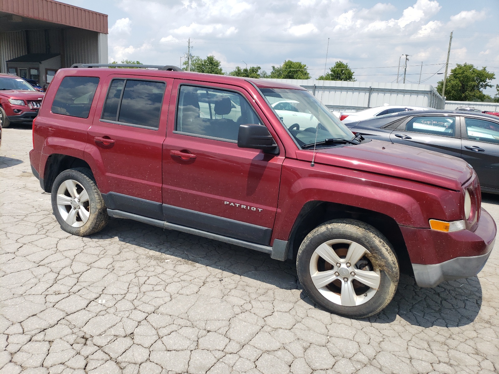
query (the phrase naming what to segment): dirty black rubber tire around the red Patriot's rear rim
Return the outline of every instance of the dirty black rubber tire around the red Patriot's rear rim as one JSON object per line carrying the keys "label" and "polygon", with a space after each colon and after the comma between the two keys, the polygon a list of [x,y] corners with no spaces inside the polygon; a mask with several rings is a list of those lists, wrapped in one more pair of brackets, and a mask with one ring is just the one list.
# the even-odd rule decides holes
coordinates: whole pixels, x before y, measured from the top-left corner
{"label": "dirty black rubber tire around the red Patriot's rear rim", "polygon": [[[58,209],[57,191],[66,181],[77,182],[88,193],[89,216],[88,220],[80,227],[66,223]],[[109,220],[106,204],[95,184],[92,172],[87,168],[74,168],[63,171],[57,176],[51,191],[52,209],[61,228],[72,235],[85,236],[102,230]]]}

